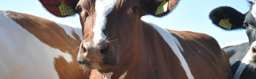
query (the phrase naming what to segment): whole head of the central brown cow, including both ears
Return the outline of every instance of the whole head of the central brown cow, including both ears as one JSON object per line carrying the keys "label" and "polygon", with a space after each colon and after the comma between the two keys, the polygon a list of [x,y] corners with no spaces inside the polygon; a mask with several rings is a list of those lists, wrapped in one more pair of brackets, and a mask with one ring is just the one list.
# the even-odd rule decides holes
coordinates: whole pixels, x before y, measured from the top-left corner
{"label": "whole head of the central brown cow, including both ears", "polygon": [[[162,0],[65,0],[80,16],[83,41],[77,60],[86,69],[112,71],[120,66],[130,66],[139,61],[141,17],[153,15],[162,17],[175,8],[179,0],[166,0],[167,11],[156,14]],[[50,13],[61,15],[58,6],[61,0],[40,0]]]}

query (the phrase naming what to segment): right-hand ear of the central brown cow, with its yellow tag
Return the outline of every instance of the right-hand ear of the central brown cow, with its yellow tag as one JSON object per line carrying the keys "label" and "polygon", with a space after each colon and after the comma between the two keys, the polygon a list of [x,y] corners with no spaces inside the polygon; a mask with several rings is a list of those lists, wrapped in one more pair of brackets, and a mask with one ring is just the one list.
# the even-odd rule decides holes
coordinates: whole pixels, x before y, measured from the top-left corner
{"label": "right-hand ear of the central brown cow, with its yellow tag", "polygon": [[180,0],[145,0],[145,15],[162,17],[172,11]]}

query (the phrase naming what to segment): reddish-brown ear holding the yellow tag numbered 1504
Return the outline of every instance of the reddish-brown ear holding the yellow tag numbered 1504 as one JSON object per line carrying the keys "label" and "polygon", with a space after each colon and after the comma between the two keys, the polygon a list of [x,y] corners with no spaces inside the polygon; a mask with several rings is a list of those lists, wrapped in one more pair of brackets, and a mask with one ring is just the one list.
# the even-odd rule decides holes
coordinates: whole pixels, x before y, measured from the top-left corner
{"label": "reddish-brown ear holding the yellow tag numbered 1504", "polygon": [[[53,15],[58,16],[58,17],[66,17],[70,16],[72,14],[75,14],[75,8],[79,0],[39,0],[43,6]],[[61,14],[61,10],[59,6],[69,6],[69,12],[67,8],[63,10],[63,14]],[[64,12],[66,10],[66,13]],[[72,12],[73,11],[73,12]],[[67,15],[66,15],[67,14]]]}

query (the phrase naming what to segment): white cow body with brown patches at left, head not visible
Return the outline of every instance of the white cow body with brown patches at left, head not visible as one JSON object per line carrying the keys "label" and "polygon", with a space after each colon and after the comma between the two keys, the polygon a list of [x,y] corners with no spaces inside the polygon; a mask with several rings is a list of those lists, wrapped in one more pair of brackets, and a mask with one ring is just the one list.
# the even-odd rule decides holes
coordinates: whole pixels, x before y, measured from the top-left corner
{"label": "white cow body with brown patches at left, head not visible", "polygon": [[86,79],[77,63],[80,28],[0,10],[0,79]]}

